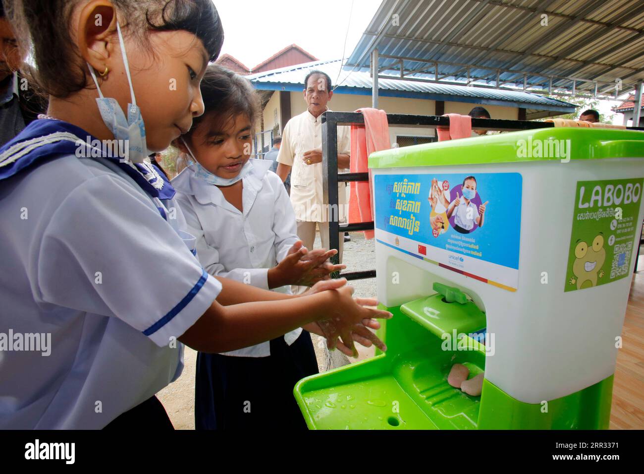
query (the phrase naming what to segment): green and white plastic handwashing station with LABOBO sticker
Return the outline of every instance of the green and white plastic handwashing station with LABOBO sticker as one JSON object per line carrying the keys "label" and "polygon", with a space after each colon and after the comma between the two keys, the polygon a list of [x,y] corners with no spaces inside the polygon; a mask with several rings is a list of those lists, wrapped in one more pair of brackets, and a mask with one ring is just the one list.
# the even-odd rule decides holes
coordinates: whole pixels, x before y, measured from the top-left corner
{"label": "green and white plastic handwashing station with LABOBO sticker", "polygon": [[643,157],[644,133],[591,128],[372,154],[388,350],[300,380],[308,427],[608,428]]}

